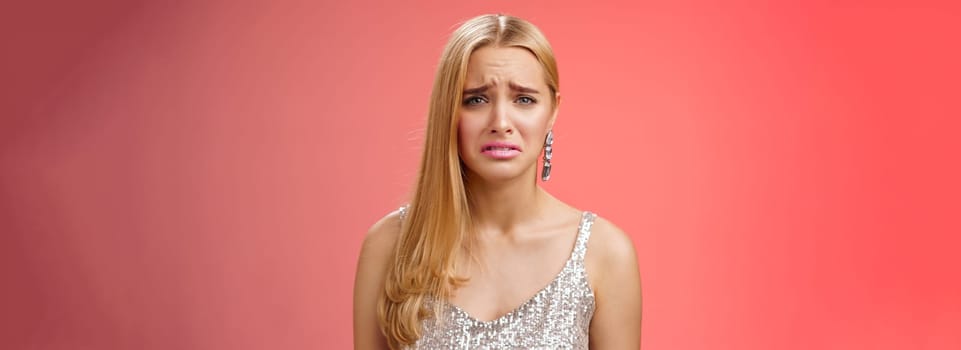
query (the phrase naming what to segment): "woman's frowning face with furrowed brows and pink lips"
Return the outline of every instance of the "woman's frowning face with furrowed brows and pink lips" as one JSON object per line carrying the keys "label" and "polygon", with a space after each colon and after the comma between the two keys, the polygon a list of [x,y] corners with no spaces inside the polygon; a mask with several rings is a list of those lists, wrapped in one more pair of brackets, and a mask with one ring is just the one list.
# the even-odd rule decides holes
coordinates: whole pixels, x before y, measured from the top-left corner
{"label": "woman's frowning face with furrowed brows and pink lips", "polygon": [[524,48],[487,46],[471,54],[458,115],[460,157],[470,177],[534,178],[557,116],[544,74]]}

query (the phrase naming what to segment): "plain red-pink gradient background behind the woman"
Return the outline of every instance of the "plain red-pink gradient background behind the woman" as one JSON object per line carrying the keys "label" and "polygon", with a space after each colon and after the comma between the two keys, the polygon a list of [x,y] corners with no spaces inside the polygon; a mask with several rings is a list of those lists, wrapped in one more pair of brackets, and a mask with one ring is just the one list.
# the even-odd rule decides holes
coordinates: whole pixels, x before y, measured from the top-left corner
{"label": "plain red-pink gradient background behind the woman", "polygon": [[505,12],[645,349],[961,348],[958,3],[790,3],[6,4],[0,347],[350,347],[447,35]]}

